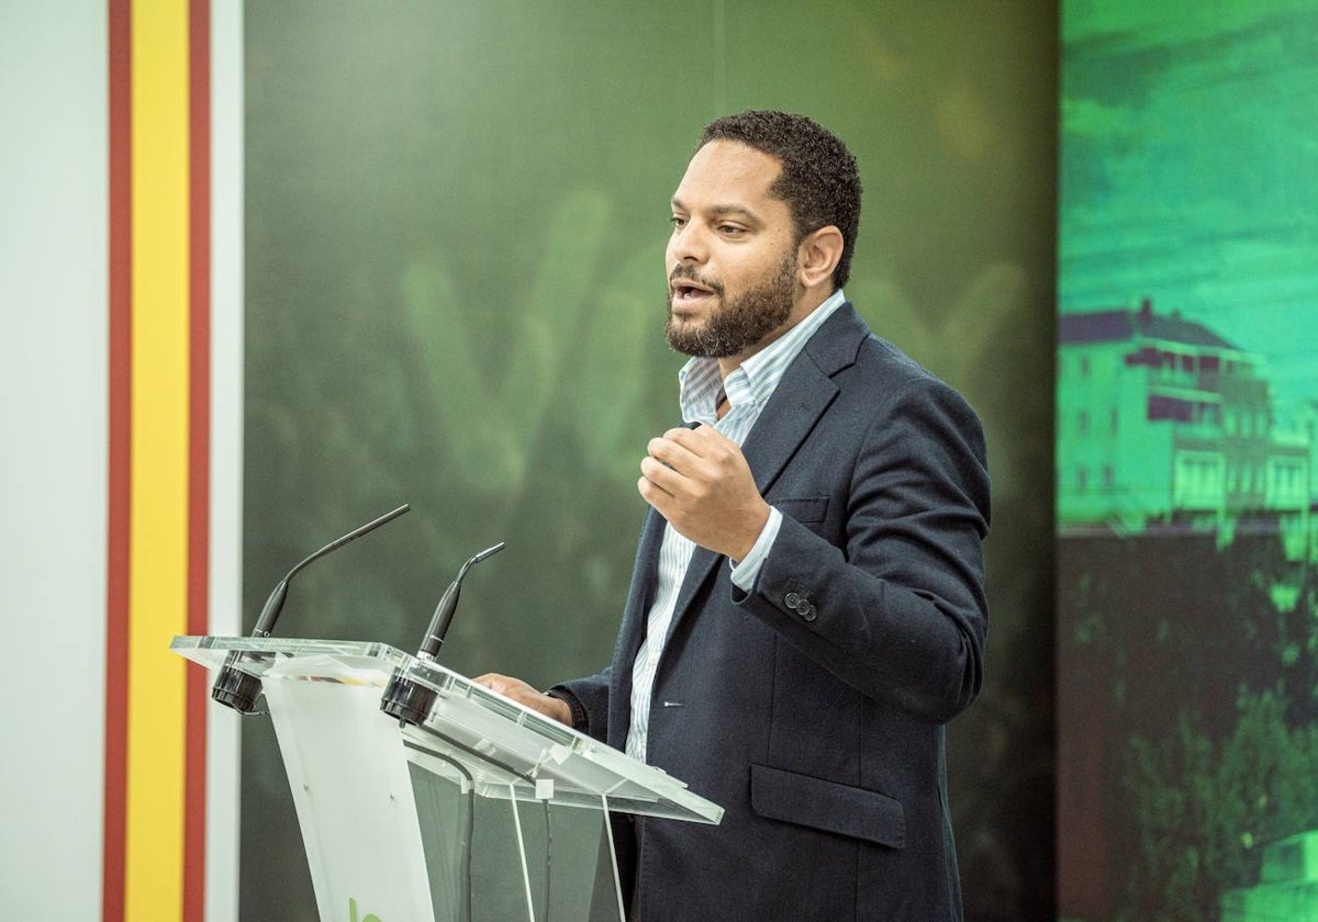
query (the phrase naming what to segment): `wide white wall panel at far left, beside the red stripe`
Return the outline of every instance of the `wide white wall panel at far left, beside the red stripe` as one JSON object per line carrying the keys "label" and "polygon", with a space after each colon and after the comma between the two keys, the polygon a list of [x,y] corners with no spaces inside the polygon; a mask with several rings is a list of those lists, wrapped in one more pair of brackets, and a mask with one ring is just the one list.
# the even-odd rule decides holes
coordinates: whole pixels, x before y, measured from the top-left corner
{"label": "wide white wall panel at far left, beside the red stripe", "polygon": [[104,0],[0,4],[0,893],[100,915]]}

